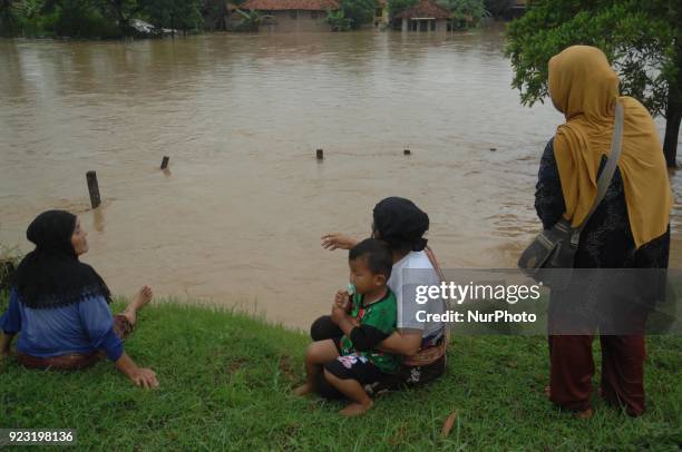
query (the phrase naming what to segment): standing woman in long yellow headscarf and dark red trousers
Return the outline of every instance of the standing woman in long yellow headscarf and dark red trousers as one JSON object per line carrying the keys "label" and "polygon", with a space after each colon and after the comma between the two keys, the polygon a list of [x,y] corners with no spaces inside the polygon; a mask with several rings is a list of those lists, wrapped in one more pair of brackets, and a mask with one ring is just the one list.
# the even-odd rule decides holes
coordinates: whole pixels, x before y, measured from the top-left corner
{"label": "standing woman in long yellow headscarf and dark red trousers", "polygon": [[[653,119],[635,99],[618,95],[618,78],[606,56],[594,47],[573,46],[549,60],[549,95],[566,122],[557,128],[540,161],[535,207],[545,228],[563,216],[579,226],[596,198],[597,178],[611,153],[615,105],[624,108],[622,151],[616,173],[598,208],[581,235],[575,267],[665,268],[670,249],[672,193]],[[549,324],[566,315],[562,306],[597,293],[582,282],[577,292],[553,291]],[[592,286],[591,286],[592,285]],[[565,311],[565,308],[564,308]],[[636,311],[639,334],[602,335],[602,394],[622,403],[627,413],[644,411],[645,311]],[[557,405],[592,415],[590,404],[594,331],[551,335],[549,399]]]}

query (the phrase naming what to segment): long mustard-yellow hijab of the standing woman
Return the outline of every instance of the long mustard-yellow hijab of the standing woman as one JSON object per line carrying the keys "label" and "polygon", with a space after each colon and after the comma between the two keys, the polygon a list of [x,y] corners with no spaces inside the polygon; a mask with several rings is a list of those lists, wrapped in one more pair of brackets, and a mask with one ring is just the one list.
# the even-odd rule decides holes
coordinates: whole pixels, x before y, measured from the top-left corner
{"label": "long mustard-yellow hijab of the standing woman", "polygon": [[672,193],[659,134],[649,111],[618,96],[618,77],[597,48],[573,46],[549,60],[549,95],[566,122],[554,137],[564,216],[579,226],[596,198],[602,155],[611,154],[615,101],[624,107],[623,177],[630,227],[637,248],[668,230]]}

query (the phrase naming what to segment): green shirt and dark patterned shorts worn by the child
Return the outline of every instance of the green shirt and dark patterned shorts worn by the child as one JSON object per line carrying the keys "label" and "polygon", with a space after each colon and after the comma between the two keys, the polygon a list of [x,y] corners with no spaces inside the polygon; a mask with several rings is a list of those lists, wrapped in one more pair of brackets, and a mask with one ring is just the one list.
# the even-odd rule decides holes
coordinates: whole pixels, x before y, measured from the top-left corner
{"label": "green shirt and dark patterned shorts worn by the child", "polygon": [[[398,318],[396,295],[387,287],[386,296],[368,306],[364,306],[363,298],[364,295],[353,295],[351,315],[360,321],[360,328],[374,330],[373,333],[377,334],[372,334],[372,336],[382,341],[396,331],[396,322]],[[351,332],[351,335],[352,334],[353,332]],[[370,351],[358,351],[353,346],[351,338],[345,335],[341,337],[339,345],[342,355],[364,356],[383,373],[392,374],[400,369],[400,363],[402,361],[400,355],[383,353],[374,347]]]}

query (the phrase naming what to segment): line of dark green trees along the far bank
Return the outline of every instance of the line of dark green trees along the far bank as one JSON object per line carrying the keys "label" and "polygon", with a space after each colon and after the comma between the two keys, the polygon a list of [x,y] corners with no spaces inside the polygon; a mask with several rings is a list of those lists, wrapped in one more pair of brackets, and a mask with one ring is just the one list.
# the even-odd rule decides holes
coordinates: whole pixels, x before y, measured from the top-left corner
{"label": "line of dark green trees along the far bank", "polygon": [[[240,7],[245,0],[231,0]],[[388,9],[396,17],[419,0],[389,0]],[[501,16],[514,0],[437,0],[450,10],[452,19],[476,23],[490,14]],[[181,32],[222,30],[227,16],[226,0],[0,0],[0,36],[71,37],[116,39],[135,36],[133,19],[152,23],[157,29]],[[370,23],[377,0],[340,0],[340,10],[329,12],[337,29],[357,29]],[[257,28],[261,14],[240,13],[242,29]]]}

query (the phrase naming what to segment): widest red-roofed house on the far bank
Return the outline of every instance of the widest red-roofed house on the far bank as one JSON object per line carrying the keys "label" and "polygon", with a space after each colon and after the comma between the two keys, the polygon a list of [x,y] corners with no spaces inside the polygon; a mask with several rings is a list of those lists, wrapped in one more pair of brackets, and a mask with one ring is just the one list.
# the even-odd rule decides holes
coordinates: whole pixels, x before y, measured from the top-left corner
{"label": "widest red-roofed house on the far bank", "polygon": [[246,0],[241,9],[270,18],[261,24],[269,31],[330,31],[327,12],[337,11],[337,0]]}

